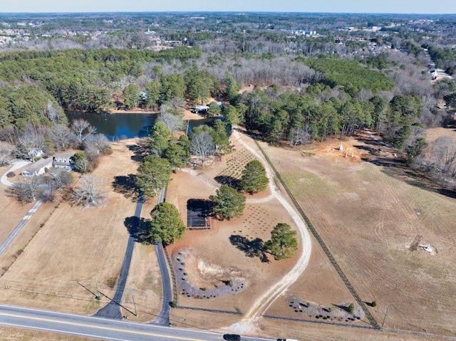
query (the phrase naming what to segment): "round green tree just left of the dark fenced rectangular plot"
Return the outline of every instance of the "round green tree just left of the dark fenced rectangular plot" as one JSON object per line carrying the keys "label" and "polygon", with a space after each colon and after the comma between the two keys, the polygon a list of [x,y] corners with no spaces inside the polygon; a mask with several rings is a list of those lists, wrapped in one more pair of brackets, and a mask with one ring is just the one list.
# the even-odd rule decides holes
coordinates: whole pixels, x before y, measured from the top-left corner
{"label": "round green tree just left of the dark fenced rectangular plot", "polygon": [[174,243],[185,234],[185,225],[176,206],[167,202],[157,204],[150,212],[150,238],[159,243]]}

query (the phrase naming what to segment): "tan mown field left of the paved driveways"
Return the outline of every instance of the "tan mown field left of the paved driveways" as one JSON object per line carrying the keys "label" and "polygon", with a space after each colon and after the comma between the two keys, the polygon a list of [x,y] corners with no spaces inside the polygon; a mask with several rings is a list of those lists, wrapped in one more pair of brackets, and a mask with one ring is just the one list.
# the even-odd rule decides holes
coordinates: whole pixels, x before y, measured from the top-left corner
{"label": "tan mown field left of the paved driveways", "polygon": [[[133,161],[133,152],[128,148],[133,142],[113,144],[113,154],[102,157],[93,172],[105,180],[108,189],[109,201],[104,207],[81,209],[64,201],[58,208],[51,206],[55,210],[51,216],[46,209],[38,209],[33,216],[36,221],[31,219],[27,228],[41,225],[43,217],[48,219],[0,278],[2,302],[86,314],[95,313],[108,303],[106,298],[95,301],[78,283],[93,292],[98,285],[108,296],[115,290],[129,236],[125,219],[134,216],[136,204],[132,198],[115,192],[113,182],[117,176],[135,173],[138,163]],[[134,267],[129,278],[129,285],[149,298],[157,295],[156,283],[152,281],[150,288],[145,285],[150,272],[156,271],[152,251],[153,246],[135,250],[133,258],[145,256],[147,262]],[[139,291],[137,295],[142,300]]]}

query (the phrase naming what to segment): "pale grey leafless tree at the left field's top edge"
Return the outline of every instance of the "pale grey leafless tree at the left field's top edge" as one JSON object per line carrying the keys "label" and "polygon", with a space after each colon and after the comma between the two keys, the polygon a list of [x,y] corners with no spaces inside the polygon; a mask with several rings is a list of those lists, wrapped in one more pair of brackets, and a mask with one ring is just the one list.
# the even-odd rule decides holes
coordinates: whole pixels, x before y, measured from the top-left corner
{"label": "pale grey leafless tree at the left field's top edge", "polygon": [[73,189],[71,196],[76,205],[85,207],[100,206],[107,199],[105,181],[95,177],[93,174],[84,174],[79,179],[78,186]]}

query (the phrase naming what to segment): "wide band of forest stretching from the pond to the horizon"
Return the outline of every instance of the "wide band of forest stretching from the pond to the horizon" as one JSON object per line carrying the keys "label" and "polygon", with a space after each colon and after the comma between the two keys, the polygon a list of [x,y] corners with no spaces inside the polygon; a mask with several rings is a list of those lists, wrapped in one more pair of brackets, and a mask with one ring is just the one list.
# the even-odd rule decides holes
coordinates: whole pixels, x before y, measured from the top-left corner
{"label": "wide band of forest stretching from the pond to the horizon", "polygon": [[[450,122],[456,104],[450,76],[430,81],[432,61],[449,75],[456,65],[451,16],[2,19],[11,37],[0,52],[0,139],[14,144],[30,124],[66,125],[63,110],[141,106],[180,115],[217,98],[222,112],[211,105],[207,115],[222,114],[224,125],[244,125],[269,142],[296,147],[367,127],[412,164],[427,147],[425,128]],[[24,30],[20,21],[31,23]],[[254,90],[239,91],[247,85]],[[446,109],[436,105],[442,99]]]}

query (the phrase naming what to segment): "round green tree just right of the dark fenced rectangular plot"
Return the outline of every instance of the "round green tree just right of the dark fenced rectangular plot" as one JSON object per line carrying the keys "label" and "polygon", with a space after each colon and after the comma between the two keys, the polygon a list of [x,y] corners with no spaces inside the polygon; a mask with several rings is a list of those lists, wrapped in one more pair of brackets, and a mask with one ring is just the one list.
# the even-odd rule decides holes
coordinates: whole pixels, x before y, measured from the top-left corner
{"label": "round green tree just right of the dark fenced rectangular plot", "polygon": [[209,196],[214,207],[214,213],[222,219],[232,219],[241,216],[245,208],[245,196],[227,184],[217,189],[215,195]]}

